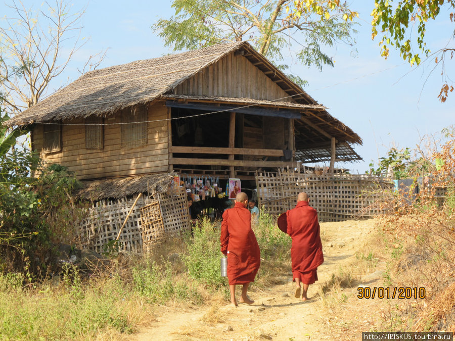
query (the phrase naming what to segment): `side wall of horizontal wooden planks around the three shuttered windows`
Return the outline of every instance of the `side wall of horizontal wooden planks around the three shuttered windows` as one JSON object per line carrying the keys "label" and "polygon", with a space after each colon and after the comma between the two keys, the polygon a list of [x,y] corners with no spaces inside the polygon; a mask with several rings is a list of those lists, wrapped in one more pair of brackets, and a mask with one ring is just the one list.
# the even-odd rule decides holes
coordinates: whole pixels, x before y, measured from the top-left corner
{"label": "side wall of horizontal wooden planks around the three shuttered windows", "polygon": [[[151,104],[148,120],[167,118],[167,108],[163,102]],[[83,119],[63,123],[84,123]],[[83,125],[63,125],[62,151],[41,153],[41,158],[49,163],[58,163],[76,172],[78,179],[122,177],[168,170],[167,121],[148,123],[147,145],[136,148],[121,148],[120,113],[105,119],[104,149],[85,149],[85,128]],[[33,132],[33,149],[41,152],[42,125]]]}

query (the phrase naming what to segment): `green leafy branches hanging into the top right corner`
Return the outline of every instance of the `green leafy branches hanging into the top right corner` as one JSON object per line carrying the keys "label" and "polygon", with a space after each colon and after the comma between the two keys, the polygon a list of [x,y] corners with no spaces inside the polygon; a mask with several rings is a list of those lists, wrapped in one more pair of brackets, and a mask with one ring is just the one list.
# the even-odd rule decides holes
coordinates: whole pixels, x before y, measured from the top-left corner
{"label": "green leafy branches hanging into the top right corner", "polygon": [[[383,37],[379,42],[381,46],[381,56],[387,59],[389,56],[389,46],[395,46],[399,51],[403,60],[411,65],[419,65],[422,61],[419,53],[415,52],[417,44],[425,60],[431,59],[435,61],[435,66],[441,67],[442,85],[438,98],[441,102],[445,102],[448,92],[453,91],[453,81],[449,80],[445,72],[445,61],[450,56],[453,58],[455,48],[445,47],[440,48],[436,52],[431,52],[426,47],[425,33],[426,24],[430,19],[435,20],[440,14],[441,9],[445,5],[449,9],[455,9],[455,0],[375,0],[376,8],[372,12],[372,38],[378,35],[378,29],[383,33]],[[451,22],[455,22],[455,14],[449,13]],[[415,34],[414,26],[417,24],[417,34]],[[413,32],[414,31],[414,32]],[[450,34],[453,39],[455,35]]]}

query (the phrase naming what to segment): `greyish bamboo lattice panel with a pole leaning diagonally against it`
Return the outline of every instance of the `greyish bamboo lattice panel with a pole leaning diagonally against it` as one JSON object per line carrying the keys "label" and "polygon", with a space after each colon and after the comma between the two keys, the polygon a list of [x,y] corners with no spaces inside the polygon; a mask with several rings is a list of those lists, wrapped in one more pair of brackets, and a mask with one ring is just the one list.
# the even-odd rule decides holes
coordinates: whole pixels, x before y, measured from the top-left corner
{"label": "greyish bamboo lattice panel with a pole leaning diagonally against it", "polygon": [[[114,240],[123,224],[135,198],[96,202],[89,210],[88,217],[81,225],[81,239],[84,246],[101,253],[110,240]],[[123,227],[118,240],[119,251],[142,253],[141,210],[148,201],[144,197],[136,203]]]}

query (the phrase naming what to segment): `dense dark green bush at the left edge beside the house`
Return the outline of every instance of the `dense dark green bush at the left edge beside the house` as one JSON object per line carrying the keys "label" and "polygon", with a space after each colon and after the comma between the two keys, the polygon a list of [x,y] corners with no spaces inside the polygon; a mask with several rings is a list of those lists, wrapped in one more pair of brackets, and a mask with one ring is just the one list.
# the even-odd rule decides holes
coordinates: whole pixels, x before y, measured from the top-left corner
{"label": "dense dark green bush at the left edge beside the house", "polygon": [[59,221],[51,226],[50,220],[58,220],[59,209],[69,206],[67,213],[75,211],[70,193],[79,182],[66,167],[43,165],[36,153],[8,137],[13,134],[10,131],[2,133],[0,248],[9,259],[3,258],[0,270],[17,270],[24,263],[31,272],[44,270],[45,260],[52,258],[53,243],[60,241],[67,225]]}

